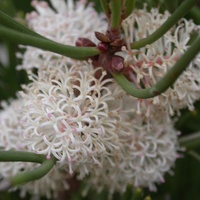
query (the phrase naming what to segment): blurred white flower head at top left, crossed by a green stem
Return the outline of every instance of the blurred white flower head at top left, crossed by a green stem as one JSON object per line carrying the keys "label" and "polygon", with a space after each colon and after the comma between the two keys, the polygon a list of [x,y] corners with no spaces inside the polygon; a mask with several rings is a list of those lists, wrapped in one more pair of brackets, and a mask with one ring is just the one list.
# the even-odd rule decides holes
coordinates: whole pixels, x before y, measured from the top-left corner
{"label": "blurred white flower head at top left, crossed by a green stem", "polygon": [[[32,1],[36,11],[27,14],[26,19],[31,29],[37,33],[61,44],[75,46],[76,40],[81,36],[94,42],[97,39],[94,31],[105,32],[107,28],[105,16],[98,14],[92,4],[81,0],[50,0],[52,7],[44,1]],[[56,62],[63,56],[43,51],[33,47],[24,47],[26,52],[18,54],[22,64],[18,68],[32,69]],[[65,58],[65,62],[72,59]]]}

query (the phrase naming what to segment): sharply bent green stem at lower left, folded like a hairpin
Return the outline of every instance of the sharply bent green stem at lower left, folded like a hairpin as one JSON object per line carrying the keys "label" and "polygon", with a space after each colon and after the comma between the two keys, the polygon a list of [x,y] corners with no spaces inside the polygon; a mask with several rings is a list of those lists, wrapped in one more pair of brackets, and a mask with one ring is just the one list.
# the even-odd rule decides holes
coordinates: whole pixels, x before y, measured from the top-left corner
{"label": "sharply bent green stem at lower left, folded like a hairpin", "polygon": [[0,191],[7,190],[13,186],[37,180],[46,175],[56,163],[56,159],[52,157],[47,160],[44,155],[34,154],[31,152],[22,151],[0,151],[1,162],[33,162],[41,165],[32,171],[21,172],[11,177],[9,180],[4,180],[0,185]]}

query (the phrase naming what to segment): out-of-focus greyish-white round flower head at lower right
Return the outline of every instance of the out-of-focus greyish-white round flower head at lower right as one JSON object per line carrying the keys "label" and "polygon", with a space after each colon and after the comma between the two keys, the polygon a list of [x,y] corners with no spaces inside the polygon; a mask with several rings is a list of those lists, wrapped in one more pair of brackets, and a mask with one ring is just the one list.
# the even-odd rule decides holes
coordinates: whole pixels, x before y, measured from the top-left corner
{"label": "out-of-focus greyish-white round flower head at lower right", "polygon": [[164,174],[170,171],[177,158],[178,133],[171,122],[164,121],[137,123],[135,127],[129,137],[121,137],[123,159],[120,169],[127,183],[155,191],[155,183],[164,182]]}

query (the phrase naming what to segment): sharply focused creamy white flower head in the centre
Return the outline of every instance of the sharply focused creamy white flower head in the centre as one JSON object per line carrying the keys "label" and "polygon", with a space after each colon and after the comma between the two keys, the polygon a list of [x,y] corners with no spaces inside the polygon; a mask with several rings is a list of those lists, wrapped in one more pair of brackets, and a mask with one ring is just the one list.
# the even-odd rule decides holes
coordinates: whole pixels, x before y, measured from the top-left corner
{"label": "sharply focused creamy white flower head in the centre", "polygon": [[[95,78],[99,76],[99,79]],[[56,66],[32,75],[33,82],[21,92],[26,113],[22,118],[26,145],[31,151],[52,154],[69,173],[81,165],[101,166],[102,160],[118,149],[116,107],[104,79],[106,72],[88,62],[70,68],[62,60]],[[84,167],[84,165],[86,167]]]}

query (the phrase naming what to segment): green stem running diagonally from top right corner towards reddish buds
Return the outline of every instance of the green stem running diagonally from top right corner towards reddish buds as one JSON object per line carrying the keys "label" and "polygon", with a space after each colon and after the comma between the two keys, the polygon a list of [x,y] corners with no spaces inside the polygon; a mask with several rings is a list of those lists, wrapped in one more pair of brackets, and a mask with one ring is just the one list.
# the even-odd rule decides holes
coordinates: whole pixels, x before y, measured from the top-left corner
{"label": "green stem running diagonally from top right corner towards reddish buds", "polygon": [[195,5],[197,0],[185,0],[176,11],[165,21],[163,25],[160,26],[154,33],[149,35],[147,38],[141,39],[139,41],[133,42],[131,44],[132,49],[139,49],[151,44],[162,37],[172,26],[174,26],[179,19],[181,19],[187,12]]}

